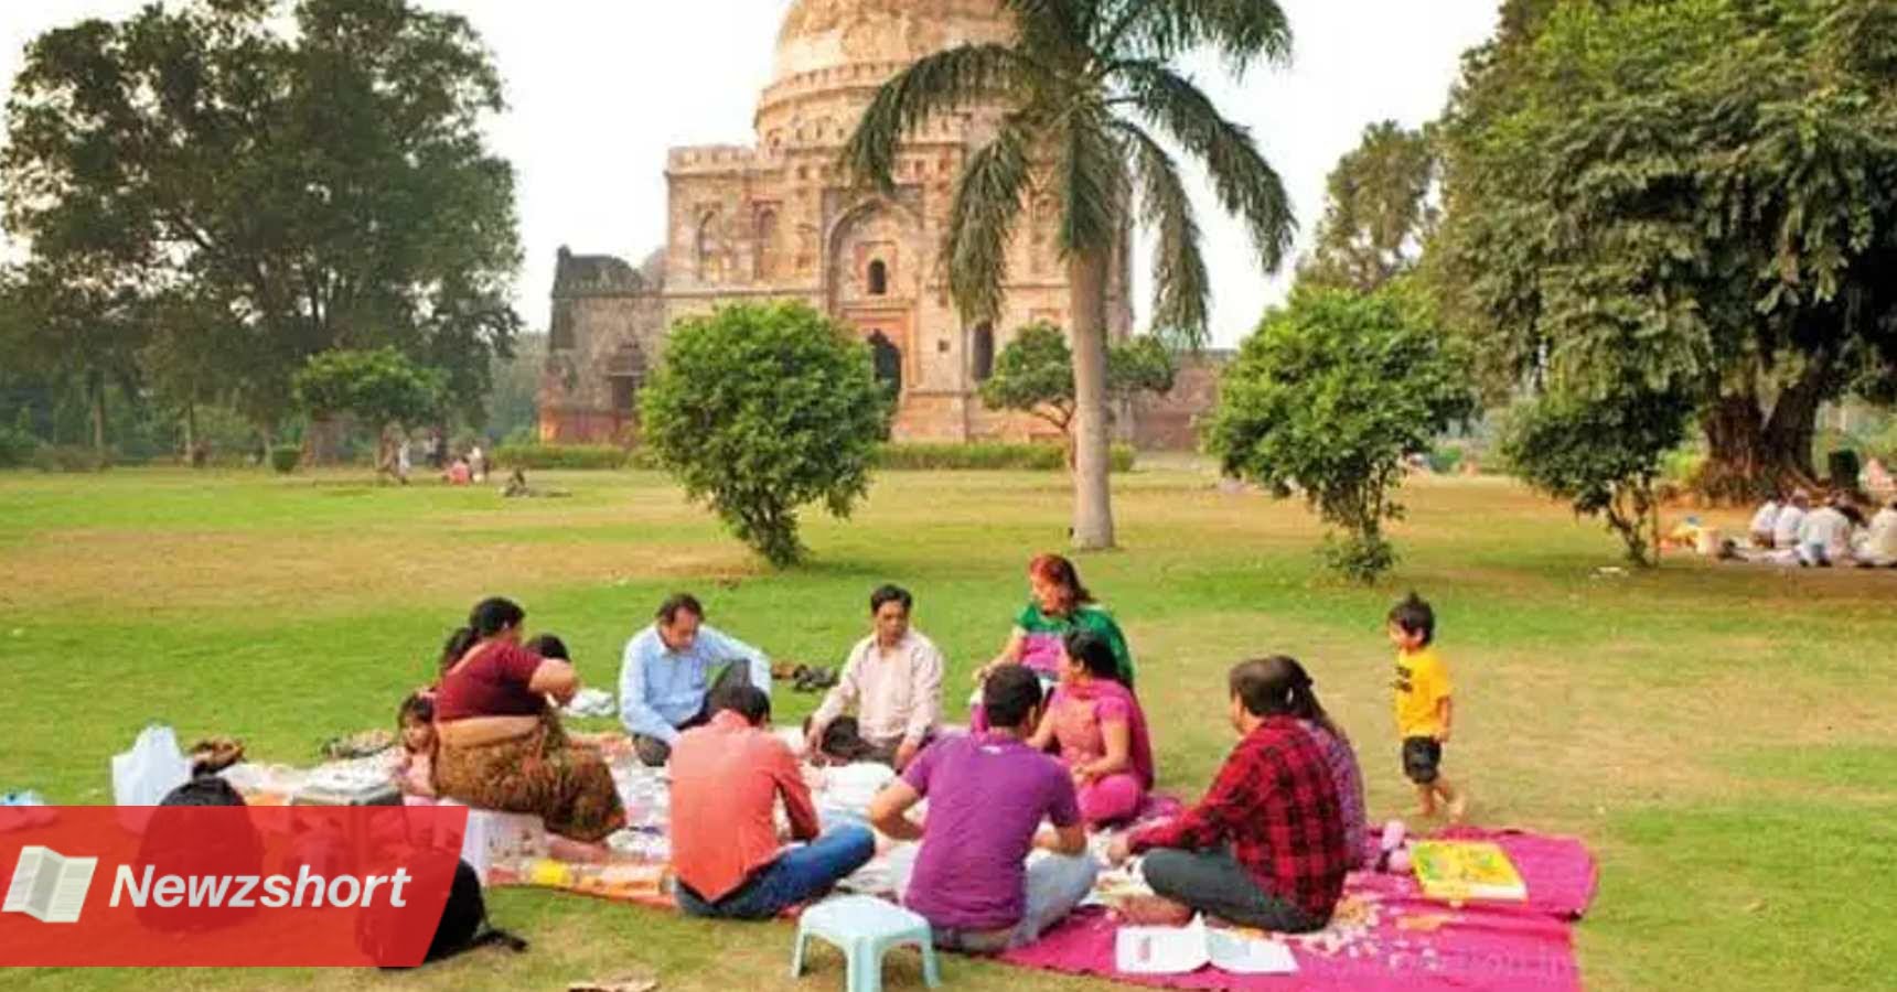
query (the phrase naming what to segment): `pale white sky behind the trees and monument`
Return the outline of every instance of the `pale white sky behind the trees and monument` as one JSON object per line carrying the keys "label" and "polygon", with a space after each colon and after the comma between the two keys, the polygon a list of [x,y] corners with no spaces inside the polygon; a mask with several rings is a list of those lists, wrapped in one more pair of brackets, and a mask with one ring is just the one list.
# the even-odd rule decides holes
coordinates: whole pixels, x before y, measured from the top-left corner
{"label": "pale white sky behind the trees and monument", "polygon": [[[666,233],[666,150],[747,144],[791,0],[419,0],[469,17],[493,49],[508,112],[489,121],[516,169],[525,264],[514,286],[529,328],[548,317],[554,256],[618,254],[637,264]],[[23,46],[85,17],[125,17],[144,0],[0,0],[0,80],[11,89]],[[1280,0],[1292,64],[1243,82],[1216,61],[1188,68],[1256,135],[1284,178],[1299,252],[1324,211],[1324,176],[1379,119],[1434,118],[1463,51],[1495,28],[1497,0]],[[0,123],[4,131],[4,123]],[[1212,341],[1233,345],[1284,298],[1294,262],[1267,277],[1244,230],[1195,176],[1212,273]],[[8,247],[17,250],[17,247]],[[1136,307],[1148,279],[1136,262]]]}

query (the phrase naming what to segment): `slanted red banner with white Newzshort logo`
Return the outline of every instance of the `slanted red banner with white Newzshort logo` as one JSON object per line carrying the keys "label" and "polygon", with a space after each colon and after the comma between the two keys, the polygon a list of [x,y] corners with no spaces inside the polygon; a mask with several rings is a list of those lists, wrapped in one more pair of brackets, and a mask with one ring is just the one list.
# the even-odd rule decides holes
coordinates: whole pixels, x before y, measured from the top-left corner
{"label": "slanted red banner with white Newzshort logo", "polygon": [[414,967],[463,806],[38,806],[0,817],[0,965]]}

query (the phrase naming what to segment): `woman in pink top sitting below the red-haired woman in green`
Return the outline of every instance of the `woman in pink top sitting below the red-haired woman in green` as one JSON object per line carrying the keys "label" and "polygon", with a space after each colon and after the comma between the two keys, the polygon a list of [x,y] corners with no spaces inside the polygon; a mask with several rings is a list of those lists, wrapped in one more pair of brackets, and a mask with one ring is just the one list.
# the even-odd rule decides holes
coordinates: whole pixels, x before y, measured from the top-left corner
{"label": "woman in pink top sitting below the red-haired woman in green", "polygon": [[1153,745],[1140,700],[1119,683],[1114,645],[1076,630],[1062,639],[1060,685],[1030,742],[1060,747],[1081,817],[1098,827],[1133,819],[1153,787]]}

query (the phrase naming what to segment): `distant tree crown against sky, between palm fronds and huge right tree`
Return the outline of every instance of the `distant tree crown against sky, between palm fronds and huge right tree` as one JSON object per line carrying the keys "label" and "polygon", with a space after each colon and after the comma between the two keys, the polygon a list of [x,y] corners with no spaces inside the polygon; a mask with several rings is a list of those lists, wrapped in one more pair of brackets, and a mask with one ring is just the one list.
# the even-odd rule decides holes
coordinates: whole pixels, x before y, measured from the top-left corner
{"label": "distant tree crown against sky, between palm fronds and huge right tree", "polygon": [[1375,292],[1415,267],[1436,228],[1436,148],[1396,121],[1364,129],[1330,173],[1324,220],[1298,279]]}

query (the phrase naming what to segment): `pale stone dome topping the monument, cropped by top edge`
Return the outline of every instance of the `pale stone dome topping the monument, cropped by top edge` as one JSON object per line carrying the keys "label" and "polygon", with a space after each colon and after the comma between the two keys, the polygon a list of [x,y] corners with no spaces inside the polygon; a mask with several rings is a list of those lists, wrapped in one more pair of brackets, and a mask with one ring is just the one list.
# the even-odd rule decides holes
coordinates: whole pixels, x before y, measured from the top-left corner
{"label": "pale stone dome topping the monument, cropped by top edge", "polygon": [[774,80],[850,64],[912,63],[969,42],[1005,42],[998,0],[793,0]]}

